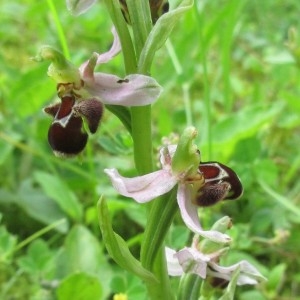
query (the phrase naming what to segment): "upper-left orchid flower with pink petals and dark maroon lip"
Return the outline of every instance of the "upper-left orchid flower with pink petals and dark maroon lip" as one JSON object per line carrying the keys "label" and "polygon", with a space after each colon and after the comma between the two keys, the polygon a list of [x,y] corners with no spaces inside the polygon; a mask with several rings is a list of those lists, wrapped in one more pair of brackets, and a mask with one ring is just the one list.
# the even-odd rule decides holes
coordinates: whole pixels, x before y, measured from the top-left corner
{"label": "upper-left orchid flower with pink petals and dark maroon lip", "polygon": [[95,72],[96,66],[110,61],[121,51],[114,28],[112,33],[114,42],[111,49],[103,54],[95,52],[79,69],[49,46],[44,46],[34,58],[52,61],[48,75],[58,83],[61,102],[44,109],[54,118],[48,131],[48,141],[58,156],[77,155],[84,149],[88,135],[83,120],[87,121],[90,132],[95,133],[103,114],[103,104],[143,106],[151,104],[160,95],[161,87],[152,77],[131,74],[120,78]]}

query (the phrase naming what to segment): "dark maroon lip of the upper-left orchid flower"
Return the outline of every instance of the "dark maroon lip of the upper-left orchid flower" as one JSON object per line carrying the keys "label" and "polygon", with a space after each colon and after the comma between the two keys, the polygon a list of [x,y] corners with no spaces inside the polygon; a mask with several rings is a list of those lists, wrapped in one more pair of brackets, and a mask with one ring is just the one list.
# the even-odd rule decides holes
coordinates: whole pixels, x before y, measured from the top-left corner
{"label": "dark maroon lip of the upper-left orchid flower", "polygon": [[[61,95],[60,95],[61,96]],[[61,102],[44,111],[54,120],[48,130],[48,142],[57,156],[75,156],[82,152],[88,141],[83,119],[94,134],[103,114],[103,104],[95,99],[78,100],[72,93],[61,96]]]}

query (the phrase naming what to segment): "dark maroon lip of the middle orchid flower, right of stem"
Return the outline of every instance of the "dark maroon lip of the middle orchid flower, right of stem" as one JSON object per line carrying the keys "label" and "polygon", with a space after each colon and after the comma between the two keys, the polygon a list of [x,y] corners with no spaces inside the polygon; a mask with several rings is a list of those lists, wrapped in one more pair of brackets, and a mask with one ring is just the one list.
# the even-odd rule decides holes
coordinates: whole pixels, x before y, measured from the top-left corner
{"label": "dark maroon lip of the middle orchid flower, right of stem", "polygon": [[199,206],[211,206],[221,200],[235,200],[243,194],[239,177],[226,165],[216,161],[201,162],[198,170],[205,180],[196,195]]}

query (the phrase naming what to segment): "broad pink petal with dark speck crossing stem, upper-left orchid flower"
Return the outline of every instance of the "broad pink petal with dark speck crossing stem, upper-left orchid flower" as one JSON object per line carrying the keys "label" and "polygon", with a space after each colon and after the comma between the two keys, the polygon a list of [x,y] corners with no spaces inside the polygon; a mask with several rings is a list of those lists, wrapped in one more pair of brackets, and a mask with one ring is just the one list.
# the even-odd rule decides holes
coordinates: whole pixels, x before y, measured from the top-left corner
{"label": "broad pink petal with dark speck crossing stem, upper-left orchid flower", "polygon": [[91,78],[88,70],[89,66],[82,77],[84,87],[104,104],[142,106],[154,102],[161,93],[161,86],[149,76],[133,74],[122,79],[110,74],[94,73]]}

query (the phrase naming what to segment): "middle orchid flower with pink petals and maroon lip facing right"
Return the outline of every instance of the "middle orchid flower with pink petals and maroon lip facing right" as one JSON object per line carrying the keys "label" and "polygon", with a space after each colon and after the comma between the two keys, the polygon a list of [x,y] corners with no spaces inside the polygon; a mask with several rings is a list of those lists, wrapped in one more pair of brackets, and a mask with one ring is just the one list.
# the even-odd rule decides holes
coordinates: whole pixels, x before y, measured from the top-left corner
{"label": "middle orchid flower with pink petals and maroon lip facing right", "polygon": [[110,177],[119,194],[131,197],[138,203],[149,202],[177,186],[177,202],[187,227],[216,242],[230,242],[230,237],[226,234],[202,229],[198,207],[238,198],[243,189],[237,175],[230,168],[217,162],[199,164],[200,154],[196,150],[191,155],[199,161],[195,171],[191,171],[191,165],[180,165],[180,161],[178,163],[178,159],[175,159],[176,154],[176,145],[163,147],[160,150],[161,169],[143,176],[125,178],[116,169],[105,169],[104,172]]}

